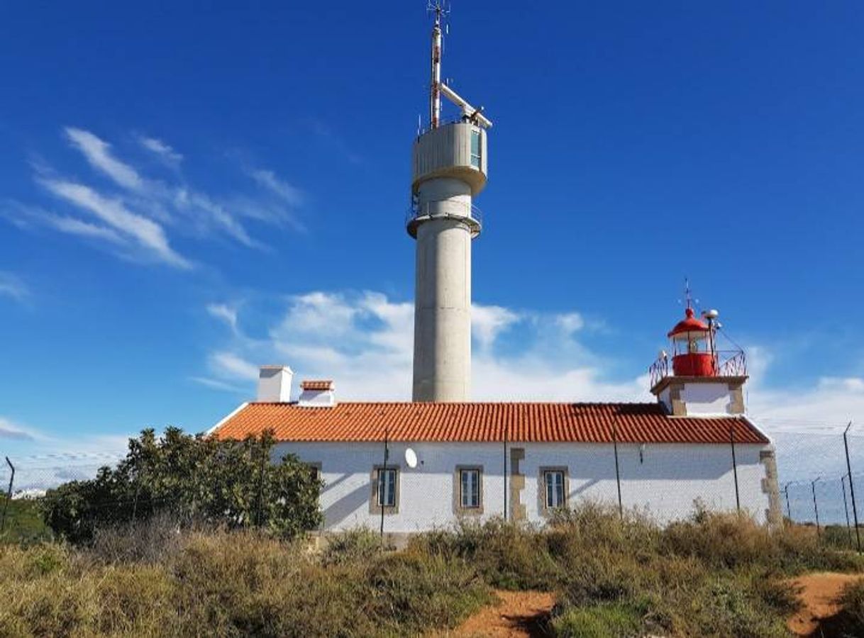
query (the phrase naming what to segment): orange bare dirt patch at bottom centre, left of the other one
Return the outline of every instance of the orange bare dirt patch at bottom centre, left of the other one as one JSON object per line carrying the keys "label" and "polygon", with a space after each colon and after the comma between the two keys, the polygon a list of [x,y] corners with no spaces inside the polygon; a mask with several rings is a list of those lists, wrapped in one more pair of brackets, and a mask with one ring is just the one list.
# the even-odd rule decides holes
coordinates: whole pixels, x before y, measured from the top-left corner
{"label": "orange bare dirt patch at bottom centre, left of the other one", "polygon": [[495,591],[492,604],[463,622],[453,638],[537,638],[543,636],[555,597],[543,591]]}

